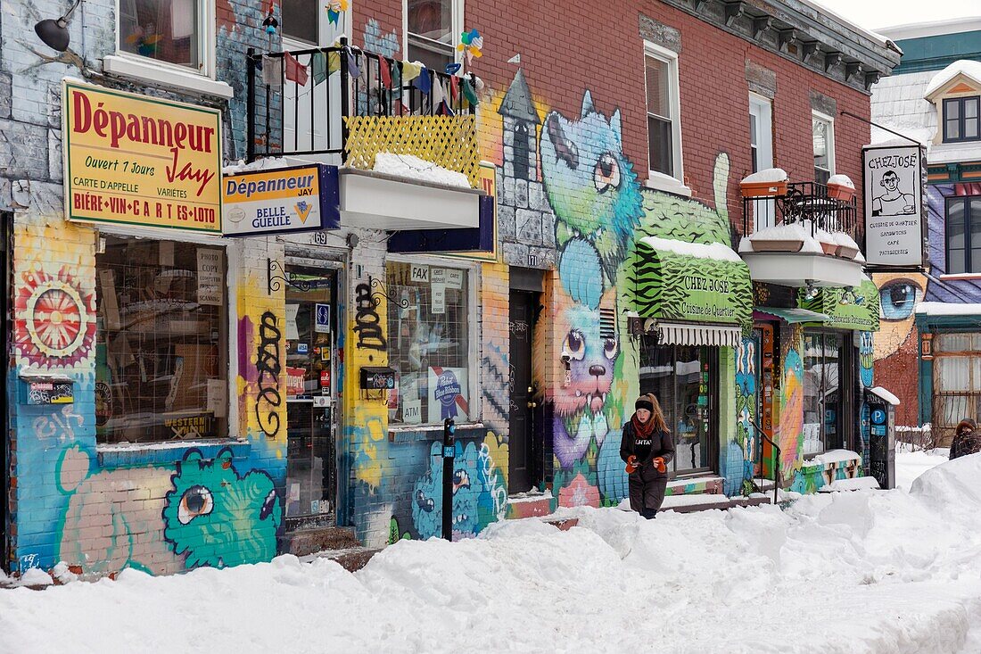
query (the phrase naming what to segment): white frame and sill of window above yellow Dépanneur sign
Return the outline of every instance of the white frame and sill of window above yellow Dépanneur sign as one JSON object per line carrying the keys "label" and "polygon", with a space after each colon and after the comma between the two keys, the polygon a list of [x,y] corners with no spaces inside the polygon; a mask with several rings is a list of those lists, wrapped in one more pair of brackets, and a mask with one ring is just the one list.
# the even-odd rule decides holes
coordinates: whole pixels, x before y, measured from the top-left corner
{"label": "white frame and sill of window above yellow D\u00e9panneur sign", "polygon": [[186,66],[125,52],[121,47],[123,34],[120,31],[120,3],[121,0],[116,0],[116,25],[114,27],[116,31],[116,54],[107,55],[103,59],[103,70],[107,74],[215,97],[226,99],[232,97],[234,94],[232,86],[215,79],[217,66],[215,0],[204,0],[200,3],[198,27],[200,29],[201,62],[197,71]]}

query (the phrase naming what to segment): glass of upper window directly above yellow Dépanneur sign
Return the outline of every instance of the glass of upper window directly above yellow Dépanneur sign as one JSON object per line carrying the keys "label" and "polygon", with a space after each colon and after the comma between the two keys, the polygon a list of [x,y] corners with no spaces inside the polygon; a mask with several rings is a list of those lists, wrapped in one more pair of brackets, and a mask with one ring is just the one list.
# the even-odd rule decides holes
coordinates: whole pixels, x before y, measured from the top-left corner
{"label": "glass of upper window directly above yellow D\u00e9panneur sign", "polygon": [[207,74],[208,4],[201,0],[120,0],[120,51]]}

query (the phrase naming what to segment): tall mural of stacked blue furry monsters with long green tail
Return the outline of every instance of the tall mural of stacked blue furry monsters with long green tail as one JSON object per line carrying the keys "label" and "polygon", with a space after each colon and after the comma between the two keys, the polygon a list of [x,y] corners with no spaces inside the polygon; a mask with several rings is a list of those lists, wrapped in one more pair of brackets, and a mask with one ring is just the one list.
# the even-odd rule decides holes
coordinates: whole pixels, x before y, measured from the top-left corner
{"label": "tall mural of stacked blue furry monsters with long green tail", "polygon": [[[552,415],[553,485],[563,506],[584,498],[594,504],[587,488],[597,487],[604,505],[618,503],[627,493],[620,425],[629,414],[627,403],[639,394],[640,360],[637,343],[625,336],[626,312],[632,307],[622,302],[623,291],[631,288],[629,261],[636,240],[649,236],[730,247],[733,241],[725,153],[715,162],[712,208],[642,189],[623,153],[621,130],[620,111],[607,118],[589,91],[578,118],[553,111],[542,125],[542,182],[555,215],[559,263],[551,324],[536,330],[540,358],[535,368]],[[605,328],[603,309],[608,311]],[[555,347],[549,349],[545,339],[553,339]],[[542,360],[545,352],[556,351],[555,360]],[[546,377],[564,383],[543,383]],[[741,449],[749,447],[747,439],[742,443]]]}

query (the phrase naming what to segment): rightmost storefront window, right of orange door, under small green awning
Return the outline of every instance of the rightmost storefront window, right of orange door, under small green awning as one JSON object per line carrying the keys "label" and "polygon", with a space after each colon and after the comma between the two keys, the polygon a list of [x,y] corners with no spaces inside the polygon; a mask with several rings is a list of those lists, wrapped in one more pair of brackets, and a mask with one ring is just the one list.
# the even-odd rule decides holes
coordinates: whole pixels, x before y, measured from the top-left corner
{"label": "rightmost storefront window, right of orange door, under small green awning", "polygon": [[803,338],[803,454],[843,447],[842,335],[805,333]]}

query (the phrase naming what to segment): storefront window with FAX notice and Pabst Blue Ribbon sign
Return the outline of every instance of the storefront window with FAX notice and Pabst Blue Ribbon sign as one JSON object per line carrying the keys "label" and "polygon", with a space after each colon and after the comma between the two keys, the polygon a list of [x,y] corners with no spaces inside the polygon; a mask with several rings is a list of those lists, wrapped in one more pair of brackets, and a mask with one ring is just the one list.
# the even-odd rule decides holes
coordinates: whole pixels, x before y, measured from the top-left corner
{"label": "storefront window with FAX notice and Pabst Blue Ribbon sign", "polygon": [[471,415],[467,271],[387,263],[388,359],[397,374],[388,417],[437,424]]}

